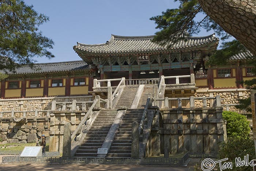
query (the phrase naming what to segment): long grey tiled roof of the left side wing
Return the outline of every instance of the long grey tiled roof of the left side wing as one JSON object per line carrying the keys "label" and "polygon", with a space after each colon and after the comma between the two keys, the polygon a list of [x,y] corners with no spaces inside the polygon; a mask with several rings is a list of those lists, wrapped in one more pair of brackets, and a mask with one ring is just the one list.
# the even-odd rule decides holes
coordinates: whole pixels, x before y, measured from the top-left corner
{"label": "long grey tiled roof of the left side wing", "polygon": [[35,74],[35,73],[51,73],[63,71],[79,71],[89,70],[89,65],[84,61],[68,61],[53,63],[35,63],[33,68],[30,66],[21,66],[15,72],[7,71],[7,74]]}

